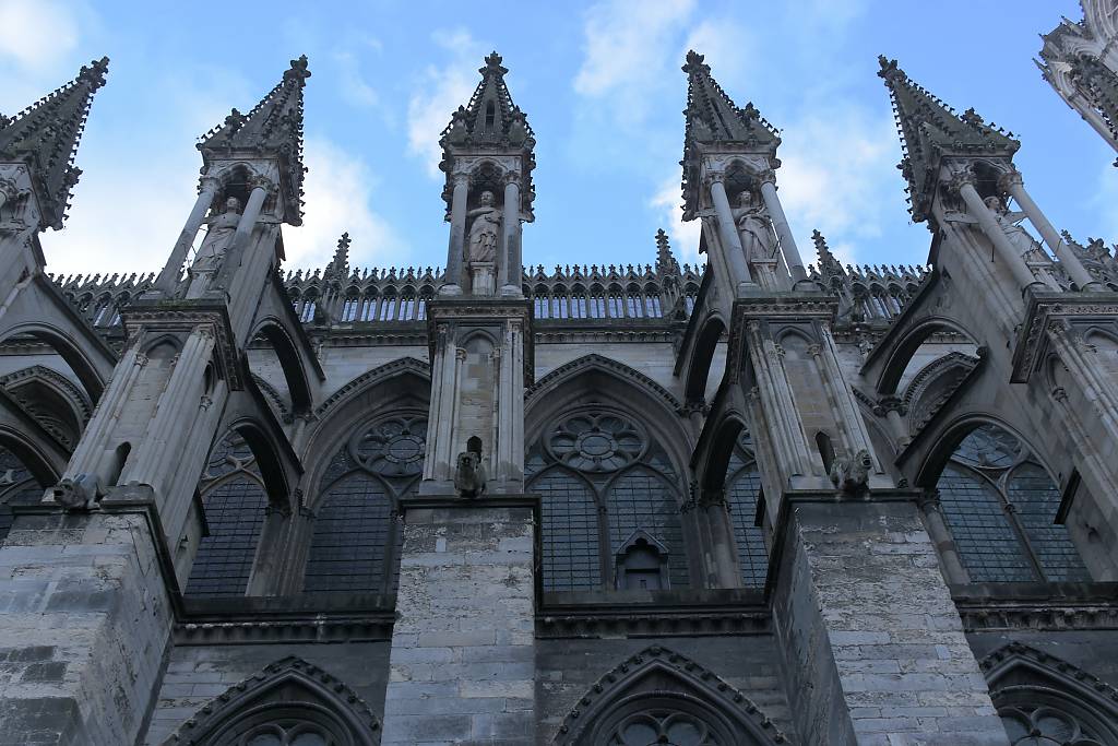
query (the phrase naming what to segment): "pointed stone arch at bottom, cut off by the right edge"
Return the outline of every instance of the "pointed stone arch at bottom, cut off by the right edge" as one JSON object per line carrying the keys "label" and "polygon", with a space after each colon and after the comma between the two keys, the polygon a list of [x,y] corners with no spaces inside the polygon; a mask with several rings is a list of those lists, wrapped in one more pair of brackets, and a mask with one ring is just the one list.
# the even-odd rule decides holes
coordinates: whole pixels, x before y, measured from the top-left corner
{"label": "pointed stone arch at bottom, cut off by the right edge", "polygon": [[[1098,677],[1016,641],[986,655],[979,667],[1014,745],[1057,734],[1060,743],[1118,744],[1118,689]],[[1059,730],[1049,734],[1045,727]],[[1041,738],[1029,738],[1031,730]]]}

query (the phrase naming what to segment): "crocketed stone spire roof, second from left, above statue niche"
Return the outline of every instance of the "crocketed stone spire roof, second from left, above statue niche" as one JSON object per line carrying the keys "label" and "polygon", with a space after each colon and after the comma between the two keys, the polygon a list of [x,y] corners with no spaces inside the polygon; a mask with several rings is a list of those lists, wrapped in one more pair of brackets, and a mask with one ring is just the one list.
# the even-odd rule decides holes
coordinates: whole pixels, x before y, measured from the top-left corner
{"label": "crocketed stone spire roof, second from left, above statue niche", "polygon": [[234,108],[198,143],[207,167],[211,160],[230,157],[277,159],[284,215],[296,226],[303,223],[303,87],[309,77],[306,55],[291,60],[283,79],[250,112]]}

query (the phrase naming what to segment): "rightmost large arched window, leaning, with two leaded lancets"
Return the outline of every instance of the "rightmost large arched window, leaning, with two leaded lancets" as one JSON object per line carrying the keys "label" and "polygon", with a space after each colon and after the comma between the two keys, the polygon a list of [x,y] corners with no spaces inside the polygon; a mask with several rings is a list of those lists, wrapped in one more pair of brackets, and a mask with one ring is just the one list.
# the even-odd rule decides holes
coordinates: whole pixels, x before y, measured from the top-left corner
{"label": "rightmost large arched window, leaning, with two leaded lancets", "polygon": [[1005,429],[979,425],[936,483],[944,518],[975,583],[1089,580],[1068,529],[1060,491]]}

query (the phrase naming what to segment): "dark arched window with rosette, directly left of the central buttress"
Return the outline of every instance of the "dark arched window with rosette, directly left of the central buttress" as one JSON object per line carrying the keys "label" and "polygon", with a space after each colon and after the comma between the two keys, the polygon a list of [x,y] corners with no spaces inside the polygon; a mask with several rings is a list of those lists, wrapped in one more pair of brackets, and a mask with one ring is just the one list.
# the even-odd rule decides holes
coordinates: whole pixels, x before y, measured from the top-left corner
{"label": "dark arched window with rosette, directly left of the central buttress", "polygon": [[423,472],[427,418],[394,415],[358,428],[320,482],[305,591],[390,593],[399,569],[394,516]]}

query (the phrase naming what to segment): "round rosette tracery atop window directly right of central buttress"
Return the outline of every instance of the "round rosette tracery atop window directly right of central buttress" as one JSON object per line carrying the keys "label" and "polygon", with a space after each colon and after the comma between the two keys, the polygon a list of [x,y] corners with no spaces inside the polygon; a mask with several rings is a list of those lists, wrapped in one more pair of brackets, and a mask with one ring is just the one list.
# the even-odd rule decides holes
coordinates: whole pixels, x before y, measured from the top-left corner
{"label": "round rosette tracery atop window directly right of central buttress", "polygon": [[548,441],[562,464],[613,472],[639,460],[645,437],[635,423],[613,413],[584,413],[559,423]]}

